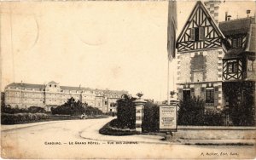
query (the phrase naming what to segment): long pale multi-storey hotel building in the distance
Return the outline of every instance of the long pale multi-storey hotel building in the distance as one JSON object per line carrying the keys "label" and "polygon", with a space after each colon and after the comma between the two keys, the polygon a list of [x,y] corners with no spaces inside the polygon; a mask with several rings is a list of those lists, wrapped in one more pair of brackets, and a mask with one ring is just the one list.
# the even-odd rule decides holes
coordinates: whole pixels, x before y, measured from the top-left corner
{"label": "long pale multi-storey hotel building in the distance", "polygon": [[28,108],[29,106],[44,107],[50,111],[52,106],[61,106],[67,99],[73,97],[97,107],[103,112],[116,111],[115,103],[122,94],[128,94],[121,90],[102,90],[70,86],[60,86],[51,81],[47,84],[10,83],[5,90],[5,104],[12,107]]}

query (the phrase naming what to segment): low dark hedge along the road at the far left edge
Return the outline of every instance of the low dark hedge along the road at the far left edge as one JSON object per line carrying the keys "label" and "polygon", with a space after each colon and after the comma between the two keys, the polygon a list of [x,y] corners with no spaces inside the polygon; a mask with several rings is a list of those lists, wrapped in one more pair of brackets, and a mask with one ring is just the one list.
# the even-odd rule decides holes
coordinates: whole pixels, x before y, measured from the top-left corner
{"label": "low dark hedge along the road at the far left edge", "polygon": [[44,113],[2,113],[1,124],[30,123],[45,120],[48,118],[48,115]]}

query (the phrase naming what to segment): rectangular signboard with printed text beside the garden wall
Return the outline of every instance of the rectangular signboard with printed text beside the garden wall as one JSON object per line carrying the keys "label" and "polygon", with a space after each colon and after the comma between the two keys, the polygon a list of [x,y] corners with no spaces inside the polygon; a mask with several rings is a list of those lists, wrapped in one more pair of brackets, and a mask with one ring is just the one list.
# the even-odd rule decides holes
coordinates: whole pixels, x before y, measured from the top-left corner
{"label": "rectangular signboard with printed text beside the garden wall", "polygon": [[177,131],[177,106],[160,106],[160,131]]}

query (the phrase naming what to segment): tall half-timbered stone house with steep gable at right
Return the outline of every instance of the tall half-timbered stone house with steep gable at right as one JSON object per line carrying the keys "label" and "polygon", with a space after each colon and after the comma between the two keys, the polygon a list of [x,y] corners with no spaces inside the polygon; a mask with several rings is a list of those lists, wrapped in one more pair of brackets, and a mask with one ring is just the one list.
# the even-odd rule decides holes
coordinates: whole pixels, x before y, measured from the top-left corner
{"label": "tall half-timbered stone house with steep gable at right", "polygon": [[198,1],[177,38],[178,99],[209,110],[255,100],[255,17],[218,22],[219,3]]}

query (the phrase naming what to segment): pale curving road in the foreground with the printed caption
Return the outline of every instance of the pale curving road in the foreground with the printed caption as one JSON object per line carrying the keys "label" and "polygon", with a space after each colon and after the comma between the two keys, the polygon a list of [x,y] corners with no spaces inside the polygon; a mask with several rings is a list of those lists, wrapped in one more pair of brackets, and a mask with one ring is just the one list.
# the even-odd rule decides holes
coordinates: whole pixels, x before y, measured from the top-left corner
{"label": "pale curving road in the foreground with the printed caption", "polygon": [[255,146],[188,146],[157,135],[107,136],[111,118],[2,125],[3,158],[254,158]]}

